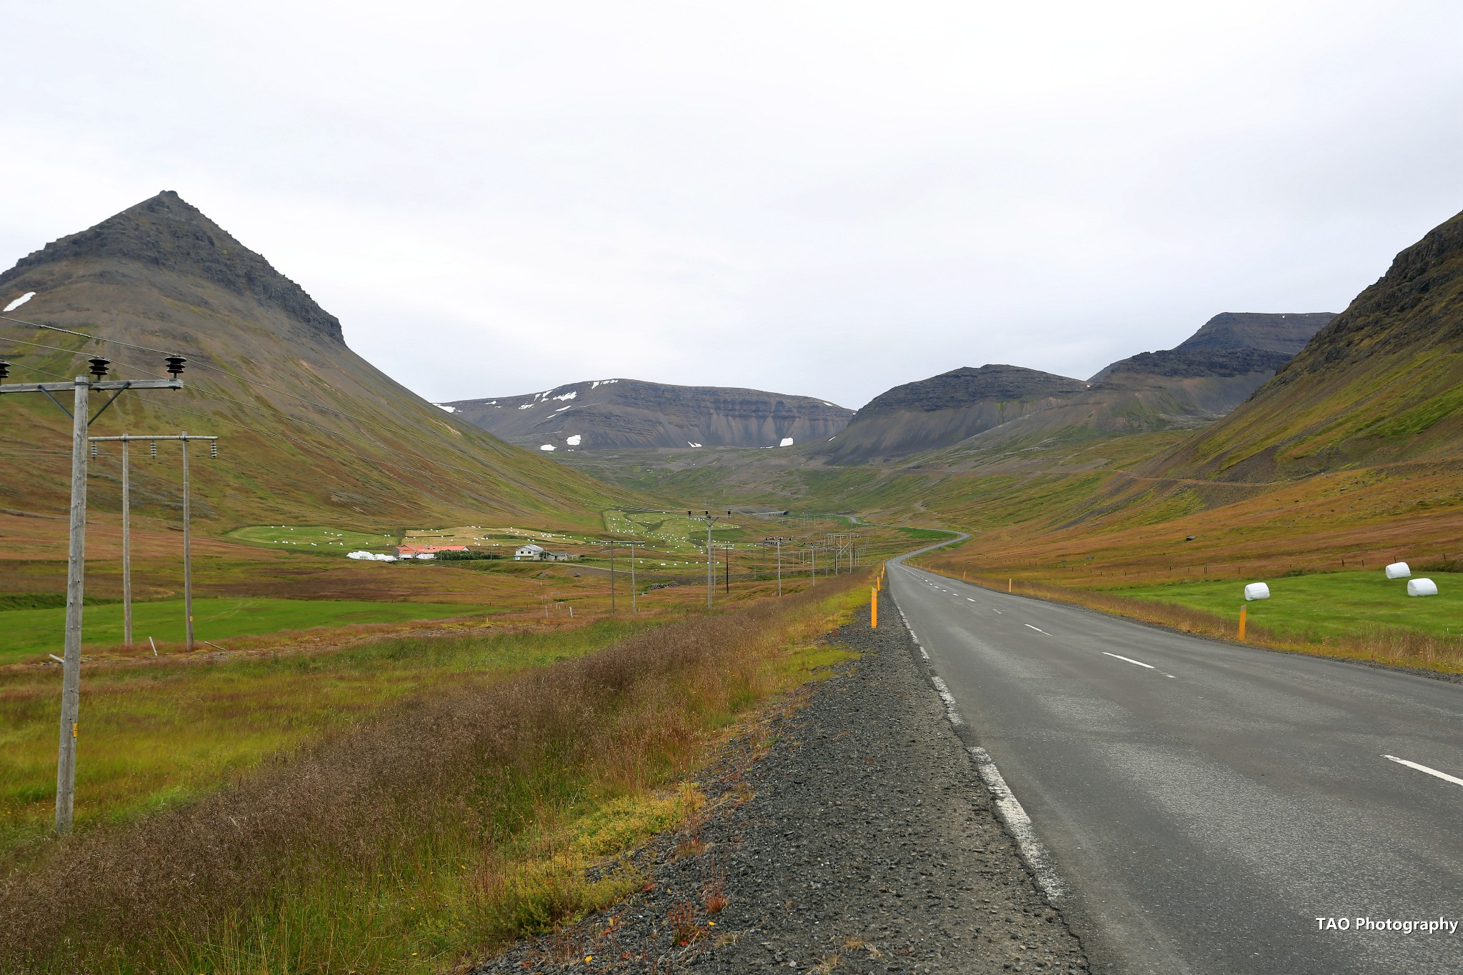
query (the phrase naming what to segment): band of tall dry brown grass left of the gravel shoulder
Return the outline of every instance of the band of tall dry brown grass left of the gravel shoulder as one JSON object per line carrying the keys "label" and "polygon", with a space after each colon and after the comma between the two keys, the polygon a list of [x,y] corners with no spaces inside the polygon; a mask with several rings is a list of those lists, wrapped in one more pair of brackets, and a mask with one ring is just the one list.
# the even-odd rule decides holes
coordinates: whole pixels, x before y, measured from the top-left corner
{"label": "band of tall dry brown grass left of the gravel shoulder", "polygon": [[[203,971],[218,944],[247,944],[253,930],[287,941],[279,928],[301,899],[404,884],[443,858],[481,871],[582,789],[587,770],[633,791],[686,767],[708,726],[777,681],[775,648],[812,636],[800,627],[818,601],[850,585],[863,579],[657,627],[487,688],[415,697],[196,803],[56,841],[0,879],[0,969]],[[563,912],[573,908],[566,898]],[[474,925],[483,943],[503,934],[481,917]],[[320,959],[309,971],[342,963],[320,955],[326,937],[361,934],[350,918],[329,927],[300,936]],[[391,952],[353,950],[363,972],[402,971]]]}

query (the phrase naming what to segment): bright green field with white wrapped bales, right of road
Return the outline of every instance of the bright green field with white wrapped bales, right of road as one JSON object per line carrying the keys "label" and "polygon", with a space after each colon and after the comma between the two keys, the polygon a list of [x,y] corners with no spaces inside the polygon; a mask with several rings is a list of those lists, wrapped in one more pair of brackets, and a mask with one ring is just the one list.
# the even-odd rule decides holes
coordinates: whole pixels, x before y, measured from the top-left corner
{"label": "bright green field with white wrapped bales, right of road", "polygon": [[[1421,573],[1418,573],[1421,574]],[[1381,572],[1330,572],[1289,579],[1267,579],[1268,599],[1245,602],[1244,583],[1176,582],[1162,586],[1110,589],[1113,595],[1173,602],[1223,617],[1246,615],[1279,636],[1346,637],[1365,627],[1403,627],[1432,636],[1463,634],[1463,576],[1428,573],[1438,583],[1435,596],[1407,596],[1404,579],[1388,580]]]}

